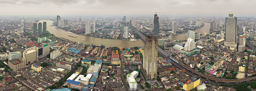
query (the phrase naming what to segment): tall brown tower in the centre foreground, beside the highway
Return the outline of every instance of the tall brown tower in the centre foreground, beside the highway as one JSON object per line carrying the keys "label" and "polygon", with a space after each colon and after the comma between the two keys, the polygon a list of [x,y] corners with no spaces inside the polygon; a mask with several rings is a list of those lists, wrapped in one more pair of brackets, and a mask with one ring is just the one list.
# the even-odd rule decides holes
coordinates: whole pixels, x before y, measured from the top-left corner
{"label": "tall brown tower in the centre foreground, beside the highway", "polygon": [[146,80],[157,79],[158,38],[149,34],[146,37],[143,56],[143,74]]}

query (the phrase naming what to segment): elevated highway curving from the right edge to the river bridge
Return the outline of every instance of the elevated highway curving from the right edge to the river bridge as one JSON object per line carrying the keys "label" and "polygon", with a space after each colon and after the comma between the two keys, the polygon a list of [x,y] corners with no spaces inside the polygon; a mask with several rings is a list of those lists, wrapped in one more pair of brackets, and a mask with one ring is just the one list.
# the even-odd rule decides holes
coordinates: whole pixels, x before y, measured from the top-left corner
{"label": "elevated highway curving from the right edge to the river bridge", "polygon": [[[145,36],[143,36],[137,29],[134,29],[133,27],[131,27],[138,35],[140,35],[141,39],[143,41],[145,41]],[[250,44],[249,42],[246,41],[246,44],[250,47],[252,46],[252,44]],[[253,46],[254,47],[254,46]],[[256,51],[256,48],[254,47],[252,49],[254,51]],[[200,72],[197,72],[197,71],[194,71],[192,68],[189,68],[189,67],[186,67],[184,66],[184,64],[181,64],[179,63],[179,61],[177,61],[176,59],[172,58],[171,56],[168,56],[166,55],[166,53],[163,53],[164,51],[161,51],[160,49],[158,49],[158,53],[160,55],[162,55],[165,59],[167,60],[171,60],[171,63],[175,66],[177,66],[178,68],[185,68],[186,70],[194,73],[194,74],[197,74],[197,75],[200,75],[201,77],[209,80],[209,81],[212,81],[212,82],[217,82],[217,83],[225,83],[225,84],[237,84],[237,83],[246,83],[246,82],[250,82],[250,81],[254,81],[256,80],[256,76],[254,77],[249,77],[249,78],[243,78],[243,79],[232,79],[232,80],[229,80],[229,79],[219,79],[219,78],[215,78],[215,77],[211,77],[211,76],[208,76],[206,74],[202,74]]]}

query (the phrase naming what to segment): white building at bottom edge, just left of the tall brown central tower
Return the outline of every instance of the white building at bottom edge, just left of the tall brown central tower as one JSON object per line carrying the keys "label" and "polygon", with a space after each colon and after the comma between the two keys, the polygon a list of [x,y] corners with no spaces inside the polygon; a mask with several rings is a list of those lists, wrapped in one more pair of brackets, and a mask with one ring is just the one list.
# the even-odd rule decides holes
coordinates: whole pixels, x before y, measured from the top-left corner
{"label": "white building at bottom edge, just left of the tall brown central tower", "polygon": [[130,74],[127,74],[127,82],[129,84],[130,90],[137,90],[138,83],[135,78],[139,75],[138,71],[133,71]]}

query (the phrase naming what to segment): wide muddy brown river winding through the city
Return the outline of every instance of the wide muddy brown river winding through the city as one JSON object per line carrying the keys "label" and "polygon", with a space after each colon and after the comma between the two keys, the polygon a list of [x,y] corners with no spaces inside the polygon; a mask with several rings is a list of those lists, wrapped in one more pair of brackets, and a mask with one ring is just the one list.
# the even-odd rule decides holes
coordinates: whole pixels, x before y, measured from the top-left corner
{"label": "wide muddy brown river winding through the city", "polygon": [[[66,39],[69,39],[70,41],[74,42],[80,42],[80,43],[86,43],[86,44],[95,44],[95,45],[105,45],[106,47],[110,46],[117,46],[117,47],[134,47],[142,45],[144,46],[144,42],[142,40],[140,41],[130,41],[130,40],[118,40],[118,39],[102,39],[102,38],[95,38],[90,36],[84,36],[84,35],[78,35],[78,34],[70,34],[65,30],[57,29],[56,26],[51,26],[53,21],[51,20],[40,20],[39,22],[47,22],[47,31],[49,31],[51,34],[54,34],[56,37],[63,37]],[[195,30],[196,32],[201,33],[201,30],[209,30],[210,23],[205,23],[205,26],[202,28],[199,28]],[[70,37],[70,36],[77,36],[76,38]],[[186,40],[186,34],[179,34],[172,37],[172,40]],[[83,41],[85,40],[85,41]]]}

